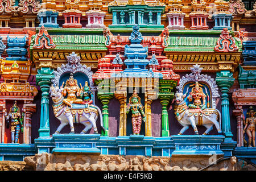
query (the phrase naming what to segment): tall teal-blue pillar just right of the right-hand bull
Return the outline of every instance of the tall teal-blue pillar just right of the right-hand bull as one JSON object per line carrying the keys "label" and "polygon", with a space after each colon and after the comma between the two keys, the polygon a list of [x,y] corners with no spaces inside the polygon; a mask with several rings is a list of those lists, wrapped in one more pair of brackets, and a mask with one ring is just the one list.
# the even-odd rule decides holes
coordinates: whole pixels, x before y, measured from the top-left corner
{"label": "tall teal-blue pillar just right of the right-hand bull", "polygon": [[228,92],[234,84],[233,73],[230,71],[221,71],[216,73],[216,82],[221,91],[221,118],[222,131],[226,134],[226,138],[232,138],[229,115],[229,98]]}

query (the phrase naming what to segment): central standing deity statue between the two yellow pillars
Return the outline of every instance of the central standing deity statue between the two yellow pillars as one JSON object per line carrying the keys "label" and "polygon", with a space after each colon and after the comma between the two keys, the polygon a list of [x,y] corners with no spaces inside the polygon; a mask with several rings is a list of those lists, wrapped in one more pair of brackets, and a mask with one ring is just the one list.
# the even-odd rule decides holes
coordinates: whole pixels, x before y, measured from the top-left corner
{"label": "central standing deity statue between the two yellow pillars", "polygon": [[[131,110],[131,122],[133,123],[133,134],[139,135],[141,131],[142,117],[143,121],[146,121],[143,106],[141,104],[141,98],[138,96],[136,89],[133,91],[133,95],[129,98],[129,104],[126,107],[126,113],[128,114]],[[141,113],[140,113],[141,111]]]}

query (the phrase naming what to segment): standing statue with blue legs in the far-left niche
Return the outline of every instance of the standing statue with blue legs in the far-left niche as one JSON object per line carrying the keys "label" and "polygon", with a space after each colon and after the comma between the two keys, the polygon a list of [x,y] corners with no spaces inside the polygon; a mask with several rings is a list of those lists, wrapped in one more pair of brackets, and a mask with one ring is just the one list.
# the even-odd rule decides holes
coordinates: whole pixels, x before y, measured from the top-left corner
{"label": "standing statue with blue legs in the far-left niche", "polygon": [[9,123],[11,121],[11,143],[18,143],[19,133],[23,132],[23,117],[24,113],[20,114],[17,101],[14,101],[14,105],[11,106],[10,111],[6,114],[7,129],[9,129]]}

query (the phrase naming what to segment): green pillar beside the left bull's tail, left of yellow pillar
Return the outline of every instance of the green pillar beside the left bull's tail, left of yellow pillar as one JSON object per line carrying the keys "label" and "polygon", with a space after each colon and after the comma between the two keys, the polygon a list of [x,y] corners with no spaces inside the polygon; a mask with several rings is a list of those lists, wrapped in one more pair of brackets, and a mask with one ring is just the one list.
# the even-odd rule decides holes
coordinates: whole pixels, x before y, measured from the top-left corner
{"label": "green pillar beside the left bull's tail, left of yellow pillar", "polygon": [[101,136],[108,137],[109,136],[109,101],[113,98],[113,94],[111,93],[98,93],[98,99],[101,100],[102,103],[102,119],[103,126],[105,128],[105,132],[102,130]]}

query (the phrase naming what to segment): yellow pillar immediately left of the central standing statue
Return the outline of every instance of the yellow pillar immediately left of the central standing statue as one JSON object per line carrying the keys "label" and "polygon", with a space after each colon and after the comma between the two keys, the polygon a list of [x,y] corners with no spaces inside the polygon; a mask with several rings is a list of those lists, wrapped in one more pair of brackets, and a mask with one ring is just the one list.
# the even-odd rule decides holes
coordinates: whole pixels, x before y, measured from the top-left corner
{"label": "yellow pillar immediately left of the central standing statue", "polygon": [[115,98],[120,103],[119,136],[126,136],[126,92],[115,92]]}

